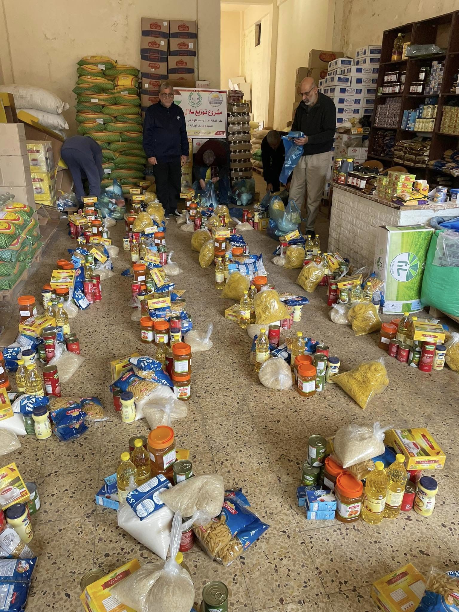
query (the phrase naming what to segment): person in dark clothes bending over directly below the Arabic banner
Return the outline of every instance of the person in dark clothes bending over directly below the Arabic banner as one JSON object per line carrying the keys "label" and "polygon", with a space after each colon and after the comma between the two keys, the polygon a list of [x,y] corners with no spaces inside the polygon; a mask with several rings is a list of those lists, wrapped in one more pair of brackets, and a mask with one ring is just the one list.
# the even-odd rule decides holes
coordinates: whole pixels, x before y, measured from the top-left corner
{"label": "person in dark clothes bending over directly below the Arabic banner", "polygon": [[217,187],[220,204],[228,203],[230,194],[230,149],[226,141],[207,140],[193,157],[193,175],[201,189],[206,188],[207,170],[211,168],[211,181]]}

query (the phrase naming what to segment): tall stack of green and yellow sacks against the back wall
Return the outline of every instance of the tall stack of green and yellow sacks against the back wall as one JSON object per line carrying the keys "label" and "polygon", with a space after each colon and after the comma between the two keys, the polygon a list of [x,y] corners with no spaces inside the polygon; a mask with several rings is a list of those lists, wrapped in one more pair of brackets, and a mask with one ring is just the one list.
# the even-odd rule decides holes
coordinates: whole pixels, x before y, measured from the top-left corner
{"label": "tall stack of green and yellow sacks against the back wall", "polygon": [[91,136],[102,147],[106,178],[102,188],[121,182],[123,193],[144,179],[146,155],[142,146],[142,118],[138,69],[104,56],[78,62],[73,93],[78,133]]}

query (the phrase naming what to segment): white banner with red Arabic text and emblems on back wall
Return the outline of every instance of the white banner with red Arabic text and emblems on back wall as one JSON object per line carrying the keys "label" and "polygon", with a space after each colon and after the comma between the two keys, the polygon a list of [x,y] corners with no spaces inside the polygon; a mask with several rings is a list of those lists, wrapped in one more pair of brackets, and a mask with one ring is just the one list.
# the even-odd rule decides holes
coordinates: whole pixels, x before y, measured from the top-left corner
{"label": "white banner with red Arabic text and emblems on back wall", "polygon": [[188,138],[226,138],[226,91],[174,88],[185,114]]}

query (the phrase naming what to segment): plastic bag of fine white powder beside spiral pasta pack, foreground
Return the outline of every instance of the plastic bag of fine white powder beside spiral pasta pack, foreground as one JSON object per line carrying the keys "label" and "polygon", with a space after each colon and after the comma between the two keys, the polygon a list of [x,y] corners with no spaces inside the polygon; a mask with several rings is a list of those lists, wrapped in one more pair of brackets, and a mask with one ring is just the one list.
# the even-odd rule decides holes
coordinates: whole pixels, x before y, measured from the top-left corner
{"label": "plastic bag of fine white powder beside spiral pasta pack, foreground", "polygon": [[172,510],[163,506],[149,517],[140,520],[129,504],[123,503],[118,509],[118,526],[165,560],[169,550],[173,517]]}

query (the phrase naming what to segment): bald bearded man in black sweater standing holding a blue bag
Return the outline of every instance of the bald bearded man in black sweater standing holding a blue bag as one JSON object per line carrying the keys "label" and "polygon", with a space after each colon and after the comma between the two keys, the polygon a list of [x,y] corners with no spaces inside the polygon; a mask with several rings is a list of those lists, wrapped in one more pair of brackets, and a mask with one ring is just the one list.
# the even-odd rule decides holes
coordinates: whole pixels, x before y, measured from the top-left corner
{"label": "bald bearded man in black sweater standing holding a blue bag", "polygon": [[332,163],[330,151],[336,129],[336,109],[329,97],[317,90],[311,76],[300,83],[302,101],[296,109],[292,132],[303,132],[295,144],[303,145],[303,155],[297,163],[290,188],[290,198],[299,208],[304,203],[307,189],[306,231],[314,234],[314,225],[324,191],[327,171]]}

